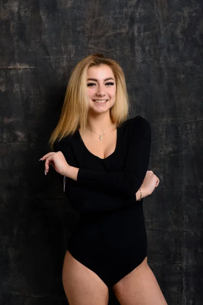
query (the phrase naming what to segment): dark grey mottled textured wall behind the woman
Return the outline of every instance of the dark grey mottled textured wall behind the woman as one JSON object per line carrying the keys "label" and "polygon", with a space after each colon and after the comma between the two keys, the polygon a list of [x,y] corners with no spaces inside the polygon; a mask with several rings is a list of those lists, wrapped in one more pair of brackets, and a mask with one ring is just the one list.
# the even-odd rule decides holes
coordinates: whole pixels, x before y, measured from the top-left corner
{"label": "dark grey mottled textured wall behind the woman", "polygon": [[168,304],[202,304],[202,0],[0,3],[0,304],[67,304],[61,270],[79,217],[38,160],[69,73],[95,52],[120,63],[130,116],[151,124],[149,265]]}

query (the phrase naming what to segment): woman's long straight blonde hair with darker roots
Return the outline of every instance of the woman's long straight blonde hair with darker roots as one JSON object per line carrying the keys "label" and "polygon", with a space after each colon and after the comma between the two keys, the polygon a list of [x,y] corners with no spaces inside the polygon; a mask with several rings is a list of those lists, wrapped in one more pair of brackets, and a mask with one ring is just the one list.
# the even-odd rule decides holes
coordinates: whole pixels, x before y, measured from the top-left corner
{"label": "woman's long straight blonde hair with darker roots", "polygon": [[110,117],[113,124],[116,123],[116,127],[118,127],[126,120],[130,104],[122,68],[115,60],[106,58],[103,54],[88,55],[75,66],[71,73],[60,118],[48,142],[51,149],[53,149],[53,143],[56,140],[60,141],[65,136],[73,135],[77,129],[81,128],[81,133],[84,132],[89,109],[87,70],[91,66],[100,65],[109,66],[116,81],[116,99],[114,105],[110,108]]}

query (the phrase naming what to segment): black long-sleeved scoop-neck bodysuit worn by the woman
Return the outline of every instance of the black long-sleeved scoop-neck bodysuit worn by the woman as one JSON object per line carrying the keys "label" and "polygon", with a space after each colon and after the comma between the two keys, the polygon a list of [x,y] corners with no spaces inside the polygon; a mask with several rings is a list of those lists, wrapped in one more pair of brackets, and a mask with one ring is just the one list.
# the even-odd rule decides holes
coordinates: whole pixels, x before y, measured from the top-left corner
{"label": "black long-sleeved scoop-neck bodysuit worn by the woman", "polygon": [[64,191],[80,220],[67,250],[110,288],[147,256],[143,199],[136,192],[150,158],[151,128],[138,115],[117,128],[114,153],[101,159],[87,149],[79,130],[54,143],[77,181],[64,176]]}

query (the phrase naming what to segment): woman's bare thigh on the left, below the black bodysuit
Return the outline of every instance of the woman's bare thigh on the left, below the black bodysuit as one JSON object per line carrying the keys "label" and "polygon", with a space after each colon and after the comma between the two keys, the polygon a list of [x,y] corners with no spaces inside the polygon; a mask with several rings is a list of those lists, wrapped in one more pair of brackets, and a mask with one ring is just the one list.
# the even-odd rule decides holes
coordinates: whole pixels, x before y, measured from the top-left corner
{"label": "woman's bare thigh on the left, below the black bodysuit", "polygon": [[62,282],[70,305],[108,305],[107,285],[69,251],[63,261]]}

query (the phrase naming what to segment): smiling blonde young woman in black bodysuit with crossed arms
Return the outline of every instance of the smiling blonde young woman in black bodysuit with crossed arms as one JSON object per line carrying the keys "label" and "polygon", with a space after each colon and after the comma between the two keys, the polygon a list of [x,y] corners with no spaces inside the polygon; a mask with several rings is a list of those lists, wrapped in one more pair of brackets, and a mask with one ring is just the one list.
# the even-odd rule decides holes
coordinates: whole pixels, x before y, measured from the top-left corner
{"label": "smiling blonde young woman in black bodysuit with crossed arms", "polygon": [[62,281],[70,305],[107,305],[112,287],[121,305],[165,305],[147,263],[143,198],[158,177],[147,171],[149,122],[127,119],[123,71],[102,54],[72,71],[61,116],[46,154],[63,176],[64,191],[80,222],[64,257]]}

